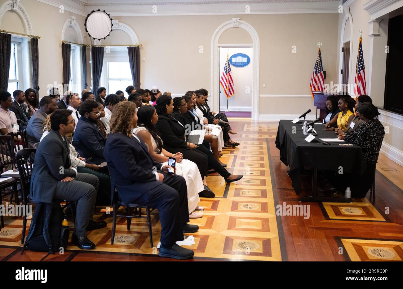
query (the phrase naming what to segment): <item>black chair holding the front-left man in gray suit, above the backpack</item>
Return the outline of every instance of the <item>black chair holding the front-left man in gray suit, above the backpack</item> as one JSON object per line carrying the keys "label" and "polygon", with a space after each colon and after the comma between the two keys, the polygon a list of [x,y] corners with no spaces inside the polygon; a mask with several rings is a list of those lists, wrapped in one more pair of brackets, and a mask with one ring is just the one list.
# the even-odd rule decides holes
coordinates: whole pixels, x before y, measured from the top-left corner
{"label": "black chair holding the front-left man in gray suit, above the backpack", "polygon": [[[32,173],[32,165],[33,160],[35,159],[35,152],[36,149],[21,149],[17,151],[15,155],[15,160],[18,166],[18,172],[20,175],[20,182],[21,182],[21,191],[23,195],[23,205],[26,208],[26,205],[31,200],[28,200],[30,186],[31,186],[31,173]],[[23,216],[23,232],[21,236],[21,244],[24,244],[25,239],[25,230],[27,229],[27,214]]]}

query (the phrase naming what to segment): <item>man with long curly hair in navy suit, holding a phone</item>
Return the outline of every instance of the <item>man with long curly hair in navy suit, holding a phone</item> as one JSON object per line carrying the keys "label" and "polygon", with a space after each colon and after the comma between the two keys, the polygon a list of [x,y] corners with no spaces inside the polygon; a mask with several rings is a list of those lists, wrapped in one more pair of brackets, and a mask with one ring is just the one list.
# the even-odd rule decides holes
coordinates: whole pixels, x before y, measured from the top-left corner
{"label": "man with long curly hair in navy suit, holding a phone", "polygon": [[193,251],[178,246],[183,233],[196,232],[189,225],[187,187],[183,177],[167,173],[168,165],[151,158],[143,140],[131,133],[137,126],[136,106],[131,101],[116,105],[110,122],[104,156],[108,163],[112,195],[116,188],[124,204],[137,203],[158,209],[161,221],[162,257],[188,259]]}

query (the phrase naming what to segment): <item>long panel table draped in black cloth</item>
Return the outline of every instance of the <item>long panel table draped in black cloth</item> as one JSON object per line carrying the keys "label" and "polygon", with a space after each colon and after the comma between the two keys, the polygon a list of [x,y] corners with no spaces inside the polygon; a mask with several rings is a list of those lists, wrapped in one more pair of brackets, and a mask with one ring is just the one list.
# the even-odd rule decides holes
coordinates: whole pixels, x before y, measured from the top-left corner
{"label": "long panel table draped in black cloth", "polygon": [[[319,196],[317,194],[318,169],[340,171],[361,175],[366,162],[357,145],[341,146],[340,142],[331,142],[331,145],[324,145],[318,138],[337,138],[334,131],[325,131],[324,125],[314,125],[317,132],[316,138],[307,142],[302,132],[302,122],[296,124],[291,120],[280,120],[276,136],[276,148],[280,150],[280,160],[290,167],[291,178],[295,193],[301,193],[301,169],[312,168],[312,196],[299,198],[300,201],[328,201],[328,202],[349,202],[350,199],[330,196]],[[311,131],[312,132],[312,131]],[[344,143],[344,142],[343,142]]]}

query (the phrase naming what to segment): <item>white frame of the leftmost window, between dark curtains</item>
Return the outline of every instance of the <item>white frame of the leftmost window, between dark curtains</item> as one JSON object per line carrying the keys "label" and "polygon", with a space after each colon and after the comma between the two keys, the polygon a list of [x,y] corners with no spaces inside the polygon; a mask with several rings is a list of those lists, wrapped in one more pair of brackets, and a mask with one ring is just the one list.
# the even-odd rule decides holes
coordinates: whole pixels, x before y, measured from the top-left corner
{"label": "white frame of the leftmost window, between dark curtains", "polygon": [[[30,62],[28,52],[28,39],[25,37],[11,36],[11,43],[14,44],[14,50],[11,52],[11,57],[17,58],[17,75],[18,79],[8,79],[8,82],[17,83],[17,87],[21,91],[25,91],[31,87],[31,79],[29,75]],[[11,59],[10,59],[11,61]]]}

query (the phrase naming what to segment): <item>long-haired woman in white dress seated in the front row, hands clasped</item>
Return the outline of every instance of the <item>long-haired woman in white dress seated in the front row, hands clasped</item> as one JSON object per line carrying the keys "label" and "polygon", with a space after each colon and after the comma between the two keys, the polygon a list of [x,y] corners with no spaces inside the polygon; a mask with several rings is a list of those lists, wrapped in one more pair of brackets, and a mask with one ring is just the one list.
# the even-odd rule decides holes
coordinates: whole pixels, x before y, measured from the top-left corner
{"label": "long-haired woman in white dress seated in the front row, hands clasped", "polygon": [[140,137],[148,145],[148,151],[156,161],[167,165],[168,157],[176,159],[176,173],[186,181],[189,218],[201,218],[203,214],[195,211],[203,210],[203,207],[198,204],[200,202],[199,193],[203,192],[205,187],[197,165],[193,161],[183,159],[180,152],[172,154],[162,148],[162,140],[154,128],[154,124],[158,121],[158,115],[153,106],[142,105],[137,111],[137,118],[137,127],[133,129],[133,134]]}

